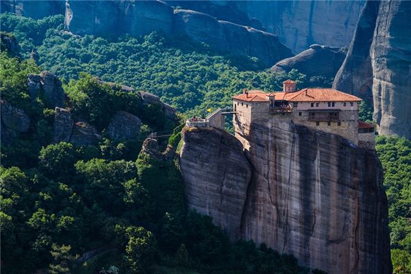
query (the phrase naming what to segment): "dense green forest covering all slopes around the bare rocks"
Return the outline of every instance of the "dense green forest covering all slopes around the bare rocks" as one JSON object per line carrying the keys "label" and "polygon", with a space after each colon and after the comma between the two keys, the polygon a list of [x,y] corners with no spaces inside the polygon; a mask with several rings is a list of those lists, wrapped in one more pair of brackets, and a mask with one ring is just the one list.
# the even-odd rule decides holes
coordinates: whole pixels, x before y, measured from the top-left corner
{"label": "dense green forest covering all slopes around the bare rocks", "polygon": [[[150,132],[174,127],[169,145],[176,149],[179,121],[153,119],[136,94],[95,77],[152,92],[186,115],[229,105],[242,88],[279,90],[287,78],[301,87],[329,86],[332,79],[264,71],[255,58],[221,55],[184,37],[73,36],[62,31],[60,15],[34,20],[1,14],[0,20],[20,47],[17,57],[2,48],[1,98],[31,119],[29,132],[1,146],[5,273],[308,272],[292,256],[264,245],[230,243],[209,217],[188,210],[176,163],[139,153]],[[76,116],[105,132],[114,112],[126,110],[142,120],[140,136],[118,141],[103,134],[87,147],[53,143],[54,110],[41,96],[30,99],[26,84],[27,74],[42,69],[62,79],[64,107]],[[370,121],[372,109],[362,103],[360,116]],[[384,136],[376,141],[395,273],[411,273],[411,142]]]}

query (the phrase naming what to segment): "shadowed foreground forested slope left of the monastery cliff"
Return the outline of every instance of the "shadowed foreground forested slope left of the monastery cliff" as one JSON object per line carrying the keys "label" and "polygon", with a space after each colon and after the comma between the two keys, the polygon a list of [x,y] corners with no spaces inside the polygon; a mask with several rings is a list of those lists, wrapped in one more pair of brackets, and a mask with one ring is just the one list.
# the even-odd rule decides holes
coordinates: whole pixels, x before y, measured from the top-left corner
{"label": "shadowed foreground forested slope left of the monastery cliff", "polygon": [[[92,145],[54,143],[55,110],[43,94],[33,98],[26,84],[27,74],[40,67],[5,51],[0,58],[2,132],[17,131],[21,125],[13,121],[29,125],[1,144],[2,271],[308,272],[294,257],[264,245],[230,243],[210,217],[186,208],[173,157],[152,151],[153,140],[138,153],[149,132],[178,126],[169,146],[173,155],[181,127],[162,123],[162,116],[152,119],[138,93],[90,75],[70,81],[64,108],[94,124],[103,138]],[[117,110],[140,117],[138,138],[110,138],[106,129]]]}

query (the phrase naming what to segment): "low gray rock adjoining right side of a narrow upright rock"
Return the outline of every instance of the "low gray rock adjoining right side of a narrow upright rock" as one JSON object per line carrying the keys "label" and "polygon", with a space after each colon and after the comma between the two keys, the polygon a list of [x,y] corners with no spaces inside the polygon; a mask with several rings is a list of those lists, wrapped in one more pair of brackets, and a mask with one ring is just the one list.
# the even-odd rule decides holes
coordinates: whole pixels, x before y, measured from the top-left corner
{"label": "low gray rock adjoining right side of a narrow upright rock", "polygon": [[101,135],[93,125],[86,121],[79,121],[74,124],[70,138],[73,145],[77,147],[88,146],[99,142],[99,140],[101,140]]}

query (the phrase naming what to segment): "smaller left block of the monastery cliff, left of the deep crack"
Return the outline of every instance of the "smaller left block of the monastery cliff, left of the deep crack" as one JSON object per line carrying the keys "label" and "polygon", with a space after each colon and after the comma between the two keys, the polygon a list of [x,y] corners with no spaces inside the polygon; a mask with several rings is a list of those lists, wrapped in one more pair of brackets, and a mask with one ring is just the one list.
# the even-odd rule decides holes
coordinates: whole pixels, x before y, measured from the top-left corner
{"label": "smaller left block of the monastery cliff, left of the deep crack", "polygon": [[184,129],[180,166],[190,208],[213,217],[233,240],[240,238],[251,165],[241,143],[218,129]]}

